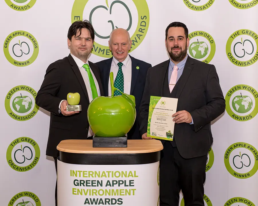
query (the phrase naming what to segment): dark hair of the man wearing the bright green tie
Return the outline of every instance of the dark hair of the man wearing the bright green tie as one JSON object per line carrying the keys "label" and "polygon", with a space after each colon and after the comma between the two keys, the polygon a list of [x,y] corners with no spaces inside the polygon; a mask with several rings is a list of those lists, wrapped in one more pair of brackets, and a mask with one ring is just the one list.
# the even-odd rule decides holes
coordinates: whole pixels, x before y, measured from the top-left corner
{"label": "dark hair of the man wearing the bright green tie", "polygon": [[83,29],[83,28],[89,30],[91,39],[93,41],[95,38],[94,29],[93,29],[92,24],[88,20],[84,20],[84,21],[78,20],[78,21],[73,22],[68,30],[67,38],[71,41],[72,37],[76,36],[78,29],[79,29],[79,32],[81,35],[81,29]]}

